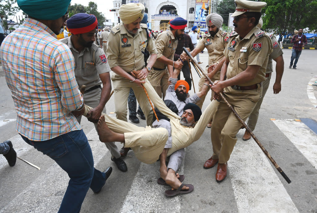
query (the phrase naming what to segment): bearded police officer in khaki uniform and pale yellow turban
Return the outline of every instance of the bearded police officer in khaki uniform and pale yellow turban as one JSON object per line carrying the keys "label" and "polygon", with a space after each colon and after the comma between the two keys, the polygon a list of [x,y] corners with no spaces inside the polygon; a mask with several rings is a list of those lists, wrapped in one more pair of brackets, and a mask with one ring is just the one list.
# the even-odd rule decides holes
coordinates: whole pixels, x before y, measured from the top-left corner
{"label": "bearded police officer in khaki uniform and pale yellow turban", "polygon": [[[141,106],[146,124],[151,126],[153,112],[141,84],[147,81],[147,76],[156,60],[156,48],[152,34],[148,34],[147,25],[141,24],[145,7],[141,3],[122,4],[119,16],[122,23],[114,26],[109,34],[107,57],[111,70],[114,72],[111,80],[114,87],[114,106],[116,117],[127,121],[127,99],[130,88]],[[144,49],[150,53],[145,67]],[[131,72],[140,70],[134,77]]]}

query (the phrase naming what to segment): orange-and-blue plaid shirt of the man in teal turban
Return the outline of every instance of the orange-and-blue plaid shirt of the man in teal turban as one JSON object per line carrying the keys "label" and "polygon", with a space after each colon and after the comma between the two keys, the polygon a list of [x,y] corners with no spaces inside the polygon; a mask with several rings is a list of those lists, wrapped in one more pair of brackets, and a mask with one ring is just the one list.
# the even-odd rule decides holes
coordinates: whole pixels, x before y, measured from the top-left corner
{"label": "orange-and-blue plaid shirt of the man in teal turban", "polygon": [[71,114],[83,104],[74,57],[49,27],[27,18],[4,39],[0,52],[21,135],[43,141],[81,129]]}

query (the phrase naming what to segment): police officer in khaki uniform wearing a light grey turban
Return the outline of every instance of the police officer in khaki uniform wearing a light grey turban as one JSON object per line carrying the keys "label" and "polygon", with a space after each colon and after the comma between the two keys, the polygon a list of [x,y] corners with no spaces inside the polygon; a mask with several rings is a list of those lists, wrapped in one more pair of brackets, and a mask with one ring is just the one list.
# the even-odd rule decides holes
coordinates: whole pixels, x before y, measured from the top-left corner
{"label": "police officer in khaki uniform wearing a light grey turban", "polygon": [[[220,29],[223,24],[223,18],[217,13],[211,13],[206,16],[206,23],[209,30],[209,33],[203,35],[203,39],[197,42],[197,46],[193,51],[191,51],[191,55],[195,57],[195,55],[199,54],[204,48],[207,48],[208,51],[208,66],[206,67],[206,73],[208,74],[211,81],[216,81],[220,79],[220,69],[222,64],[219,62],[224,58],[223,51],[229,42],[229,33],[224,32]],[[181,59],[186,60],[188,56],[186,53],[183,53]],[[212,66],[215,65],[216,67]],[[218,65],[219,64],[219,65]],[[214,68],[214,69],[212,69]],[[201,76],[198,86],[199,92],[202,90],[204,86],[206,78],[204,75]],[[207,94],[206,94],[207,95]],[[206,95],[201,97],[201,100],[197,101],[197,105],[202,108]]]}

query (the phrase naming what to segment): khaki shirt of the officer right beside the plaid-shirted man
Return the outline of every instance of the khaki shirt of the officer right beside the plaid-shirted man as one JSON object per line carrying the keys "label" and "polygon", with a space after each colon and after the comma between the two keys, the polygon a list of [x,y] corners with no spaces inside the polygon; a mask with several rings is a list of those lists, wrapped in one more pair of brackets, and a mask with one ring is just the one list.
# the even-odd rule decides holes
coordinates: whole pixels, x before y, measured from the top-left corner
{"label": "khaki shirt of the officer right beside the plaid-shirted man", "polygon": [[[79,88],[81,85],[86,85],[87,90],[96,85],[100,85],[102,82],[99,74],[111,71],[105,52],[94,43],[91,48],[86,47],[81,52],[78,52],[72,44],[71,36],[63,38],[60,41],[67,44],[74,55],[74,72]],[[92,63],[94,63],[94,65]]]}

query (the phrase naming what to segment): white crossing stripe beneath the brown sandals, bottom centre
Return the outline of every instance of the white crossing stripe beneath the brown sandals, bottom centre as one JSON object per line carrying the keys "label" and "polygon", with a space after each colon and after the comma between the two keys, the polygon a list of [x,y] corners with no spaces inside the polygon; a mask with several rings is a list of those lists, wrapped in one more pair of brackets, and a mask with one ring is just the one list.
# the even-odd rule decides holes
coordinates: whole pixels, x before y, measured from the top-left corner
{"label": "white crossing stripe beneath the brown sandals, bottom centre", "polygon": [[[184,173],[184,160],[178,173]],[[179,213],[181,196],[166,197],[165,190],[171,187],[159,185],[158,178],[159,162],[151,165],[141,163],[120,213]]]}

